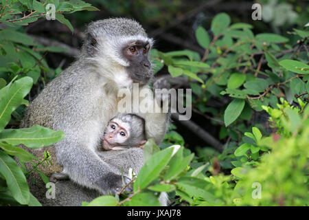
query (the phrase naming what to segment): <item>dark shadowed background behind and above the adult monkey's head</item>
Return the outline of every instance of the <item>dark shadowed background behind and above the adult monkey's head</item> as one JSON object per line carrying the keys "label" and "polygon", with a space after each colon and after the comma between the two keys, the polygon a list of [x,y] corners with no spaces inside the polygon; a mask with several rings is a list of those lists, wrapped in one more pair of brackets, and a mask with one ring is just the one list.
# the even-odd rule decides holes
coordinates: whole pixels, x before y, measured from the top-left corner
{"label": "dark shadowed background behind and above the adult monkey's head", "polygon": [[[149,36],[155,39],[155,48],[161,52],[170,52],[175,50],[193,50],[203,56],[205,50],[198,45],[196,41],[195,31],[198,26],[202,25],[209,30],[211,20],[220,12],[226,12],[231,17],[231,23],[249,23],[253,25],[253,33],[273,32],[282,36],[287,35],[287,31],[293,30],[298,25],[304,24],[308,20],[308,1],[277,1],[280,3],[288,3],[292,6],[292,10],[298,13],[298,18],[293,23],[284,23],[284,25],[275,25],[273,21],[253,21],[251,19],[251,6],[253,1],[87,1],[100,11],[89,12],[81,11],[73,14],[67,14],[67,19],[74,27],[73,34],[67,26],[58,21],[46,21],[39,19],[34,23],[30,23],[25,28],[25,32],[36,36],[38,42],[45,45],[54,43],[57,46],[63,44],[69,46],[70,54],[54,54],[46,55],[49,67],[54,69],[65,69],[73,61],[71,55],[78,54],[78,49],[82,44],[85,25],[91,21],[106,19],[110,17],[127,17],[135,19],[143,25]],[[258,1],[260,3],[269,4],[271,1]],[[282,19],[285,19],[282,14]],[[209,33],[211,34],[211,33]],[[291,36],[289,36],[291,37]],[[292,36],[293,38],[293,36]],[[56,42],[55,42],[56,41]],[[293,41],[293,39],[292,39]],[[296,41],[296,40],[295,40]],[[293,43],[293,42],[292,42]],[[68,56],[69,55],[69,56]],[[257,61],[258,62],[258,61]],[[59,70],[60,71],[60,70]],[[166,67],[161,69],[156,76],[168,74]],[[189,87],[188,84],[176,84],[175,88]],[[34,91],[34,89],[32,89]],[[35,94],[34,94],[35,96]],[[211,98],[207,101],[207,107],[222,108],[230,102],[231,99],[224,98],[218,100]],[[192,120],[203,127],[211,135],[218,139],[220,124],[213,125],[211,121],[203,115],[192,113]],[[266,125],[266,113],[255,112],[251,123],[264,123]],[[186,146],[194,150],[194,146],[207,146],[201,138],[194,135],[192,130],[187,129],[178,122],[175,122],[179,128],[178,131],[184,137]],[[224,144],[224,143],[223,143]]]}

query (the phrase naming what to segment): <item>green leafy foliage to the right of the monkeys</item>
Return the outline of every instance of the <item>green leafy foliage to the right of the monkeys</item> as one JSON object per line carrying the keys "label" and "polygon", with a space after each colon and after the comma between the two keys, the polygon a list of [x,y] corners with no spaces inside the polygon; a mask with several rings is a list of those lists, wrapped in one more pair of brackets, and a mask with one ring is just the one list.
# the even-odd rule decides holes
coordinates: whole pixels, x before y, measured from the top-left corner
{"label": "green leafy foliage to the right of the monkeys", "polygon": [[[194,109],[212,114],[213,124],[224,125],[221,139],[228,136],[231,141],[222,153],[200,148],[194,156],[183,148],[185,142],[172,126],[161,145],[163,150],[148,149],[148,142],[145,151],[155,153],[147,157],[133,182],[133,194],[115,197],[114,206],[154,206],[163,191],[169,192],[174,205],[308,204],[308,54],[306,50],[295,53],[286,36],[254,35],[251,25],[230,23],[222,13],[214,17],[210,32],[196,29],[196,41],[205,49],[203,58],[190,50],[152,50],[151,56],[154,63],[160,63],[155,72],[164,64],[172,77],[187,78]],[[308,31],[295,29],[293,34],[299,36],[299,48],[306,47]],[[207,107],[211,98],[229,102],[214,109]],[[270,115],[271,135],[263,135],[266,131],[261,124],[248,123],[261,111]],[[173,148],[178,151],[171,154]],[[104,205],[111,197],[100,199]]]}

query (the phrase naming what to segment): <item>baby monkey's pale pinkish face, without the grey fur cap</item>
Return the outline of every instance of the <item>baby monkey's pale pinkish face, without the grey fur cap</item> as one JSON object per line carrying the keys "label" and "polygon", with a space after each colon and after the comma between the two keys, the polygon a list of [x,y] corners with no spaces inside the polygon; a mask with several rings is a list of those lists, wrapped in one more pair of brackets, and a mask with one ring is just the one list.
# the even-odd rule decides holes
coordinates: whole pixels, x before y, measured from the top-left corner
{"label": "baby monkey's pale pinkish face, without the grey fur cap", "polygon": [[108,122],[108,126],[104,133],[103,147],[106,150],[111,150],[114,146],[124,146],[128,140],[129,124],[122,123],[119,125],[117,122]]}

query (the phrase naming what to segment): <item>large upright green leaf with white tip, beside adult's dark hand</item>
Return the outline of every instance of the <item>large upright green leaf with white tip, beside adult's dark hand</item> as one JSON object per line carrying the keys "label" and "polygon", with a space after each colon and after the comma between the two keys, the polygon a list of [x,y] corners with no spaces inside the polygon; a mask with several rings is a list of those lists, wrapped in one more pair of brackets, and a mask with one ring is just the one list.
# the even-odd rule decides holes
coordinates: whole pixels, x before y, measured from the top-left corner
{"label": "large upright green leaf with white tip, beside adult's dark hand", "polygon": [[165,148],[152,155],[144,164],[144,166],[139,171],[139,175],[134,184],[134,190],[146,188],[153,180],[155,180],[163,168],[170,162],[172,158],[172,153],[174,151],[174,146]]}

